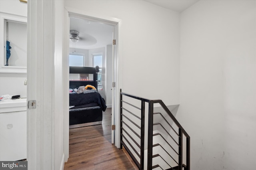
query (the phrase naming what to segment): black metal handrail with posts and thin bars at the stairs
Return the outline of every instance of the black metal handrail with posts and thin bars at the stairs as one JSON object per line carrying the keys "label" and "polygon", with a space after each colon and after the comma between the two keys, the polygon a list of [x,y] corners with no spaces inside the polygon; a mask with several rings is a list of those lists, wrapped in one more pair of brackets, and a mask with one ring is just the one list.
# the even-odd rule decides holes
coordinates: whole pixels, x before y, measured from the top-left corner
{"label": "black metal handrail with posts and thin bars at the stairs", "polygon": [[[127,102],[127,101],[123,101],[123,97],[122,96],[127,96],[127,97],[131,97],[133,99],[137,99],[139,101],[141,101],[141,107],[137,107],[135,105],[132,105],[131,103]],[[123,93],[122,90],[120,89],[120,146],[122,148],[122,146],[124,146],[124,148],[126,148],[126,150],[128,151],[128,154],[131,156],[131,158],[134,160],[135,164],[138,166],[138,168],[140,170],[144,169],[144,126],[145,126],[145,102],[148,103],[148,160],[147,160],[147,168],[148,170],[152,170],[153,168],[156,167],[160,167],[161,169],[163,169],[159,164],[152,166],[152,158],[155,158],[157,156],[160,156],[160,154],[154,154],[153,155],[153,147],[154,146],[160,146],[161,148],[163,148],[160,144],[154,144],[153,145],[153,136],[161,136],[161,138],[163,139],[164,142],[166,142],[171,148],[172,150],[174,150],[174,152],[176,154],[178,154],[178,160],[175,160],[164,148],[164,151],[174,160],[175,163],[178,164],[178,166],[170,166],[169,163],[167,163],[166,160],[164,160],[164,158],[162,156],[160,156],[162,158],[162,160],[164,160],[164,162],[166,162],[171,170],[182,170],[182,168],[184,168],[185,170],[190,170],[190,136],[188,135],[188,133],[184,130],[184,128],[182,128],[182,126],[180,125],[180,123],[176,120],[176,118],[172,115],[172,113],[170,112],[170,110],[166,107],[166,105],[162,102],[162,100],[150,100],[150,99],[146,99],[146,98],[142,98],[142,97],[138,97],[138,96],[134,96],[134,95],[130,95],[128,93]],[[127,105],[139,109],[141,111],[140,113],[140,117],[135,115],[134,113],[132,113],[131,111],[129,111],[128,109],[126,109],[125,107],[123,107],[123,103],[126,103]],[[154,103],[159,103],[161,105],[161,107],[164,109],[164,111],[168,114],[168,116],[172,119],[173,123],[175,123],[175,125],[178,127],[178,132],[176,130],[174,130],[174,128],[170,125],[170,123],[164,118],[164,116],[161,113],[153,113],[153,108],[154,108]],[[137,125],[134,121],[132,121],[131,119],[128,118],[128,116],[123,114],[123,110],[126,111],[126,114],[130,114],[135,118],[138,118],[140,120],[140,125]],[[170,133],[160,124],[160,123],[153,123],[153,117],[154,115],[158,115],[160,114],[162,119],[167,123],[167,125],[169,127],[172,128],[172,130],[175,132],[176,135],[178,135],[178,142],[176,140],[174,140],[174,138],[170,135]],[[138,127],[140,129],[140,134],[138,134],[137,132],[135,132],[135,130],[133,130],[131,127],[128,126],[128,123],[126,123],[125,121],[123,121],[122,118],[125,118],[126,121],[129,121],[130,123],[132,123],[133,125],[135,125],[136,127]],[[126,127],[128,127],[128,129],[131,130],[131,132],[133,132],[136,136],[138,136],[140,138],[140,144],[138,144],[138,142],[136,142],[134,140],[134,138],[132,137],[132,135],[128,134],[128,132],[124,129],[123,127],[123,123],[124,125],[126,125]],[[174,144],[176,144],[178,146],[178,152],[173,148],[173,146],[170,145],[170,143],[160,134],[160,133],[156,133],[153,134],[153,126],[157,126],[160,125],[165,132],[167,132],[168,136],[170,136],[172,138],[172,140],[174,141]],[[125,134],[123,133],[123,131],[125,132]],[[137,152],[137,150],[132,146],[132,144],[128,141],[127,136],[129,138],[131,138],[131,140],[136,144],[136,146],[140,147],[140,153]],[[183,164],[183,135],[186,137],[186,165]],[[123,140],[123,137],[125,139],[125,141]],[[127,146],[130,146],[129,148]],[[140,158],[140,161],[138,161],[135,156],[133,155],[133,152],[131,152],[130,148],[132,148],[132,150],[136,153],[136,155]],[[168,169],[168,170],[169,170]]]}

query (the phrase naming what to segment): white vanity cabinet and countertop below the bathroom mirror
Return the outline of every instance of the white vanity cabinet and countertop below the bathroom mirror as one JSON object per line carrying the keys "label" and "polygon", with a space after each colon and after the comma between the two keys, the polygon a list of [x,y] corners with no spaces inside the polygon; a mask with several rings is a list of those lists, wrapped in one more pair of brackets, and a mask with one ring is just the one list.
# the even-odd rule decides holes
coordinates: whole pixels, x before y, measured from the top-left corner
{"label": "white vanity cabinet and countertop below the bathroom mirror", "polygon": [[27,157],[26,99],[0,101],[0,161]]}

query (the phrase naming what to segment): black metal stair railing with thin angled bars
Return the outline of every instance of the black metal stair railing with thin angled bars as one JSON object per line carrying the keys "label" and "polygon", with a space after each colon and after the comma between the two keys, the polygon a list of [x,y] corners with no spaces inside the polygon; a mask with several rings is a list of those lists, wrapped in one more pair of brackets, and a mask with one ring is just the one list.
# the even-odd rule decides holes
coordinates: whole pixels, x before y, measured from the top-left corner
{"label": "black metal stair railing with thin angled bars", "polygon": [[[137,107],[128,101],[123,100],[123,95],[130,97],[132,99],[136,99],[141,101],[141,106]],[[161,165],[154,164],[152,165],[153,158],[160,158],[163,160],[168,166],[168,168],[165,168],[167,170],[190,170],[190,136],[187,134],[187,132],[182,128],[180,123],[176,120],[176,118],[172,115],[170,110],[166,107],[166,105],[162,102],[162,100],[150,100],[145,99],[142,97],[130,95],[128,93],[123,93],[120,89],[120,148],[124,146],[124,148],[127,150],[128,154],[131,156],[132,160],[135,162],[136,166],[140,170],[144,170],[144,134],[145,134],[145,102],[148,103],[148,155],[147,155],[147,169],[152,170],[154,168],[160,168]],[[130,107],[134,109],[140,110],[140,116],[134,114],[132,111],[129,111],[126,109],[126,107],[123,106],[123,103],[126,103],[126,106],[129,105]],[[178,128],[175,130],[172,125],[170,125],[170,122],[168,122],[165,117],[162,115],[162,113],[154,113],[154,104],[159,103],[161,107],[164,109],[164,111],[168,114],[168,116],[171,118],[172,122],[175,123],[176,127]],[[125,111],[125,114],[123,113]],[[129,116],[128,116],[129,115]],[[154,115],[160,115],[162,117],[162,120],[166,122],[168,127],[170,127],[171,130],[173,130],[174,134],[178,136],[178,142],[174,139],[174,137],[166,130],[166,128],[161,123],[154,123]],[[130,119],[130,118],[132,119]],[[123,120],[124,118],[124,120]],[[139,119],[140,123],[136,123],[134,119]],[[130,125],[129,125],[130,123]],[[166,138],[163,137],[160,133],[153,134],[153,127],[160,125],[160,128],[164,130],[164,132],[172,139],[172,144],[166,140]],[[133,127],[132,127],[133,126]],[[134,128],[138,128],[140,130],[140,134],[134,130]],[[129,132],[128,132],[129,130]],[[134,138],[139,138],[140,142],[138,140],[135,140]],[[172,156],[166,149],[159,143],[153,144],[153,137],[154,136],[160,136],[159,139],[161,139],[164,143],[167,144],[169,148],[171,148],[174,152],[174,154],[177,154],[178,160],[176,160],[175,156]],[[183,164],[183,136],[186,137],[186,164]],[[140,143],[140,144],[139,144]],[[178,151],[174,148],[172,145],[177,145]],[[135,147],[139,148],[136,149]],[[154,147],[160,147],[161,150],[163,150],[164,153],[168,156],[168,158],[164,158],[162,153],[154,153],[153,155],[153,148]],[[136,159],[139,158],[139,161]],[[174,166],[170,164],[170,162],[174,162]]]}

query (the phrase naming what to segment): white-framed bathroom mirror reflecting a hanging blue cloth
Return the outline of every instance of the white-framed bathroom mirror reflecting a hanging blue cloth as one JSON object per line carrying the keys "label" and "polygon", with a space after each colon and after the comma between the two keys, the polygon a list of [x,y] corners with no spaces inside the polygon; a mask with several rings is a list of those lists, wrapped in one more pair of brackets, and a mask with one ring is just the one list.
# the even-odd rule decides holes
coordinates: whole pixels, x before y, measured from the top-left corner
{"label": "white-framed bathroom mirror reflecting a hanging blue cloth", "polygon": [[27,72],[27,18],[0,13],[0,73]]}

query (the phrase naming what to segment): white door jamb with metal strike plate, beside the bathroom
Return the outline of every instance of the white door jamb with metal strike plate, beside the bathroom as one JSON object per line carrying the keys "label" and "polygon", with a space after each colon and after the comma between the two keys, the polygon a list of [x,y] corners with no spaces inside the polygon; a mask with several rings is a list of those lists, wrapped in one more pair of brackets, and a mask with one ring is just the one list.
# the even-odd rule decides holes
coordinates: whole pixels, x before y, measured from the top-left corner
{"label": "white door jamb with metal strike plate, beside the bathroom", "polygon": [[[52,153],[53,77],[54,77],[54,4],[52,1],[28,3],[27,100],[35,106],[27,110],[28,169],[54,166]],[[27,102],[28,102],[27,101]],[[48,162],[44,164],[44,162]]]}

